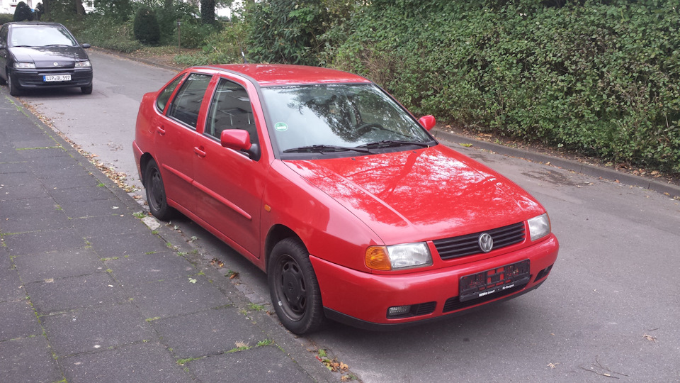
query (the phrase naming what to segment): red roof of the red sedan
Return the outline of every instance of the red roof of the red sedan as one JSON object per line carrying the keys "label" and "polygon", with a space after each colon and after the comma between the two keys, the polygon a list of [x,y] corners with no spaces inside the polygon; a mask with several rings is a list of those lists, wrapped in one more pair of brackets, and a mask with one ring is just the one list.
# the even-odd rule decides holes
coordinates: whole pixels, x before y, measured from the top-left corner
{"label": "red roof of the red sedan", "polygon": [[304,65],[232,64],[211,65],[210,68],[244,74],[261,87],[293,84],[370,83],[368,79],[357,74]]}

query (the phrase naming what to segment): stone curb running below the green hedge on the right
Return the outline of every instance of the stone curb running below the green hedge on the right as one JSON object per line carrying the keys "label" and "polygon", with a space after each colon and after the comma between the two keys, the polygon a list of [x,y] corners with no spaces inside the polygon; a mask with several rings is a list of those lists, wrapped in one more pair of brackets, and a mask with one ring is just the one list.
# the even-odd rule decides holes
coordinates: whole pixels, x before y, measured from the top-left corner
{"label": "stone curb running below the green hedge on the right", "polygon": [[438,127],[433,128],[431,133],[438,140],[446,140],[450,143],[471,144],[475,148],[489,150],[490,152],[496,152],[501,155],[507,155],[510,157],[520,157],[528,161],[540,162],[546,165],[549,164],[550,166],[570,170],[572,172],[583,174],[589,177],[600,177],[608,179],[610,181],[618,181],[621,182],[622,184],[641,187],[642,189],[648,189],[651,191],[657,191],[658,193],[666,194],[676,199],[680,198],[680,186],[676,184],[661,182],[655,179],[648,179],[645,177],[619,172],[614,169],[599,167],[596,165],[591,165],[583,162],[565,160],[563,158],[544,155],[538,152],[510,148],[508,146],[499,145],[496,143],[489,143],[484,140],[475,140],[456,133],[441,131],[440,128]]}

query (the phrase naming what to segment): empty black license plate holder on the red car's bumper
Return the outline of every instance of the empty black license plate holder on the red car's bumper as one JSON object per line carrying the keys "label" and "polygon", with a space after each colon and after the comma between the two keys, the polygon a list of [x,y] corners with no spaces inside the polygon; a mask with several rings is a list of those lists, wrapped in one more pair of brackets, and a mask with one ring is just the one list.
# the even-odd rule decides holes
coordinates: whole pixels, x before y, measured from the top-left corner
{"label": "empty black license plate holder on the red car's bumper", "polygon": [[529,282],[529,260],[460,277],[461,302],[504,292]]}

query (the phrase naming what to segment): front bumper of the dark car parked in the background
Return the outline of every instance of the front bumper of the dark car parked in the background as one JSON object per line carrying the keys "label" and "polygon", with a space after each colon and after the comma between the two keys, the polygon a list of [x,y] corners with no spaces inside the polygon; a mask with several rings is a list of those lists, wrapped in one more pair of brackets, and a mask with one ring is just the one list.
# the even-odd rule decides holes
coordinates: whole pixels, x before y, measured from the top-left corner
{"label": "front bumper of the dark car parked in the background", "polygon": [[[30,69],[12,71],[13,79],[23,89],[89,87],[92,84],[92,68]],[[69,74],[71,81],[46,82],[45,76]]]}

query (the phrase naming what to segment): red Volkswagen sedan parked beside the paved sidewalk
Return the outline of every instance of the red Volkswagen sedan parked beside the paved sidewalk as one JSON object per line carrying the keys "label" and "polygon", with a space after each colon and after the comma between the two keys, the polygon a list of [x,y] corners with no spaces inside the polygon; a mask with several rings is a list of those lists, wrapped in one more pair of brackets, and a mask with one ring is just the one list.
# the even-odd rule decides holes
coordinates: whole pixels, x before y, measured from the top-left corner
{"label": "red Volkswagen sedan parked beside the paved sidewalk", "polygon": [[154,216],[265,271],[290,331],[390,328],[529,292],[557,258],[543,206],[434,124],[355,74],[215,65],[145,94],[133,145]]}

